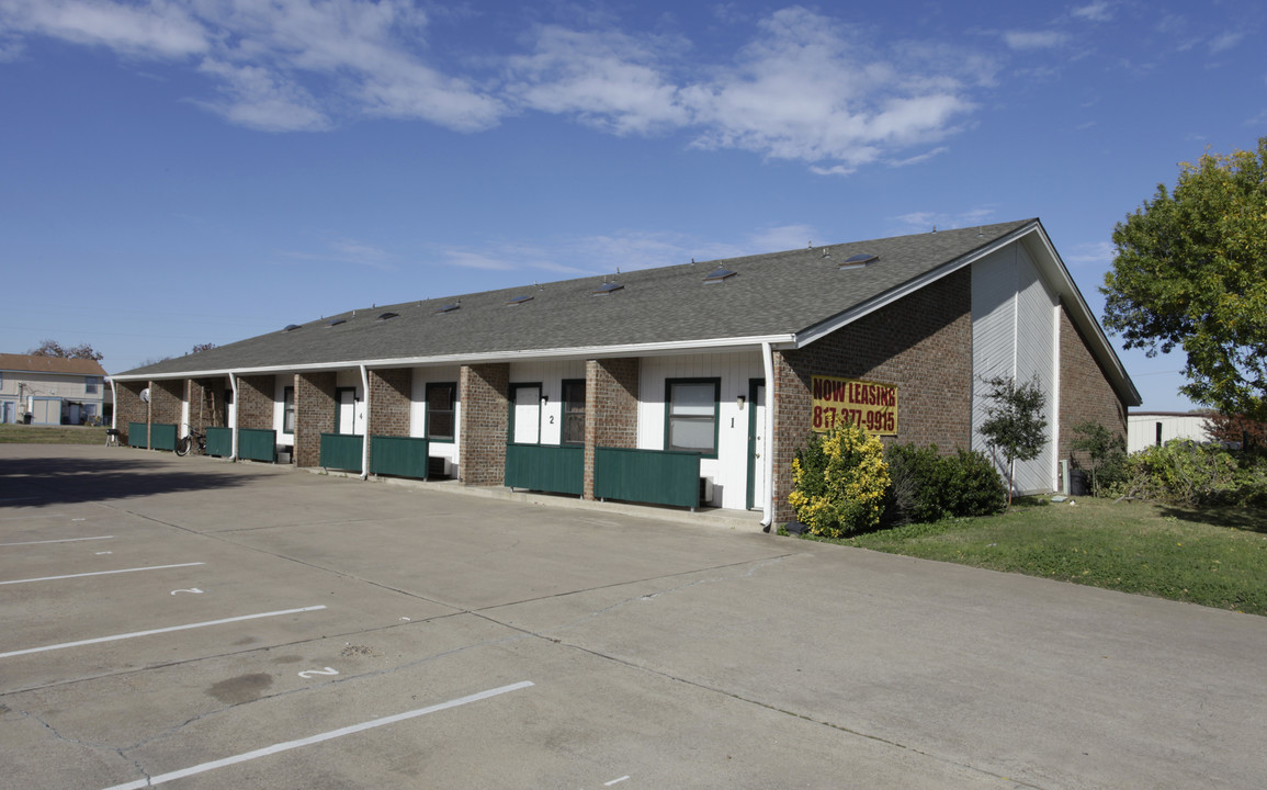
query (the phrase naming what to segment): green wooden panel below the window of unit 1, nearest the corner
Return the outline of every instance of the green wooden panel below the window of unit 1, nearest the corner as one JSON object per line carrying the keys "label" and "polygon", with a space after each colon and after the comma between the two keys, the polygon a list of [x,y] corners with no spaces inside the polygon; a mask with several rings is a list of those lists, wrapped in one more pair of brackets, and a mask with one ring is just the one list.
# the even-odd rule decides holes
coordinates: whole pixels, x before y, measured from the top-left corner
{"label": "green wooden panel below the window of unit 1, nearest the corner", "polygon": [[699,454],[594,448],[594,496],[696,507],[699,505]]}

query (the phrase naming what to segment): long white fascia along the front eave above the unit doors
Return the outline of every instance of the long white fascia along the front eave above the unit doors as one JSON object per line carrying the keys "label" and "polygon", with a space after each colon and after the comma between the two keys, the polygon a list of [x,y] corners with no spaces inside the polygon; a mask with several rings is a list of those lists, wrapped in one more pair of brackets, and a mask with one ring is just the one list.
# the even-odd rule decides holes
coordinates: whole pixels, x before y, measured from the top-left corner
{"label": "long white fascia along the front eave above the unit doors", "polygon": [[721,337],[668,342],[630,344],[618,346],[575,346],[570,349],[528,349],[523,351],[485,351],[480,354],[443,354],[437,356],[402,356],[392,359],[340,360],[303,365],[264,365],[257,368],[224,368],[214,370],[185,370],[147,375],[113,375],[115,382],[146,382],[158,379],[194,379],[215,375],[264,375],[269,373],[302,373],[305,370],[342,370],[365,365],[378,368],[414,368],[431,365],[470,365],[513,363],[537,359],[608,359],[618,356],[661,356],[696,351],[737,351],[744,347],[760,349],[763,342],[775,347],[791,347],[796,335],[764,335],[750,337]]}

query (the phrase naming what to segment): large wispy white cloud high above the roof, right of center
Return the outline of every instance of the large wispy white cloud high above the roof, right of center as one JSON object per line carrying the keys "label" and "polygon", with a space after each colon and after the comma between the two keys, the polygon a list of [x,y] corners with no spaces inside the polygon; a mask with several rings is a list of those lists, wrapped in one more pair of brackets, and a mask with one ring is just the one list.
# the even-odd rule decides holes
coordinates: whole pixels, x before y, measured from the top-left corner
{"label": "large wispy white cloud high above the roof, right of center", "polygon": [[525,108],[620,134],[682,129],[698,148],[848,174],[954,133],[976,108],[971,87],[993,79],[988,60],[946,47],[902,42],[886,57],[858,30],[803,8],[767,16],[758,33],[731,62],[682,77],[677,39],[547,27],[532,56],[511,58],[511,93]]}

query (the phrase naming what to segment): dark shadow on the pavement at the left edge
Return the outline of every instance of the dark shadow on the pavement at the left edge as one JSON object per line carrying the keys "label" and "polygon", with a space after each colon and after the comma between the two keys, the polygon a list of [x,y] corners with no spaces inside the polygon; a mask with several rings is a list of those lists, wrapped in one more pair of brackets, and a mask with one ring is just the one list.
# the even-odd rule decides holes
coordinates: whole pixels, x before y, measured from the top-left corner
{"label": "dark shadow on the pavement at the left edge", "polygon": [[209,469],[174,469],[171,463],[143,458],[4,458],[0,508],[233,488],[248,481]]}

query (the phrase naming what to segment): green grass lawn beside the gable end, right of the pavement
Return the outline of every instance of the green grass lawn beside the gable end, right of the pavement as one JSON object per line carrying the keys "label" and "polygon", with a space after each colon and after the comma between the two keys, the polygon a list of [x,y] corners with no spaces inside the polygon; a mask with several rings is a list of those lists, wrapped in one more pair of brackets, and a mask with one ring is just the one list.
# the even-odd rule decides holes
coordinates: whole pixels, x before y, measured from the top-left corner
{"label": "green grass lawn beside the gable end, right of the pavement", "polygon": [[831,543],[1267,615],[1267,512],[1076,502],[1024,498]]}

